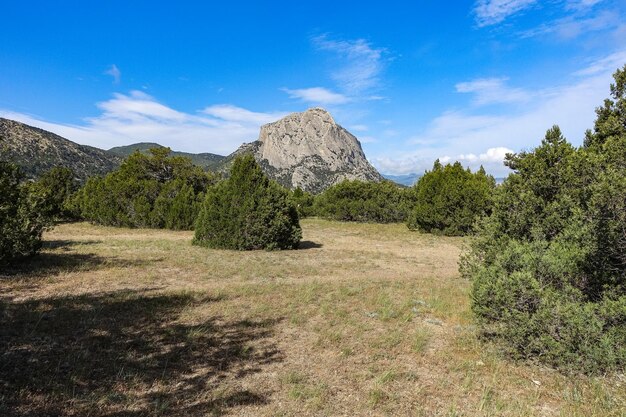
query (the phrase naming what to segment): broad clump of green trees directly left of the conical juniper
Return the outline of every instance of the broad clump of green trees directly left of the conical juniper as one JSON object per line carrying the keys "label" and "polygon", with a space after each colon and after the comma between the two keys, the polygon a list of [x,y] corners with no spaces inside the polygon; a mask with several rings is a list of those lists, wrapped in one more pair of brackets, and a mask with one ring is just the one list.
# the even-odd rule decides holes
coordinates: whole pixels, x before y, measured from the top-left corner
{"label": "broad clump of green trees directly left of the conical juniper", "polygon": [[103,225],[193,229],[215,179],[188,158],[169,153],[169,148],[133,153],[118,170],[90,178],[74,206],[83,218]]}

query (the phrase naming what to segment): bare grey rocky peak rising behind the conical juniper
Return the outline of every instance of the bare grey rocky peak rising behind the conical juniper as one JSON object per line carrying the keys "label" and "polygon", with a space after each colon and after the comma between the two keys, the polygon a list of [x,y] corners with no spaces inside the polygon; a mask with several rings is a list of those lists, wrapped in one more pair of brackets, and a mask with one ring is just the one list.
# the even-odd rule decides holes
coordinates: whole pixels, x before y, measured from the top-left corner
{"label": "bare grey rocky peak rising behind the conical juniper", "polygon": [[252,153],[263,171],[284,186],[313,193],[346,179],[383,179],[365,158],[357,138],[321,108],[263,125],[259,139],[243,144],[219,169],[227,170],[241,153]]}

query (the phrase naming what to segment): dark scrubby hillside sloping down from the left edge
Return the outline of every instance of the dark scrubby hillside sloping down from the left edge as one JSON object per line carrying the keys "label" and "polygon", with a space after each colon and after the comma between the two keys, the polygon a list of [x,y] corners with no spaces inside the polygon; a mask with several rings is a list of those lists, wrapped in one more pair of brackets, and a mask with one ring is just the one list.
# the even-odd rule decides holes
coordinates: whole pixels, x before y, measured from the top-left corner
{"label": "dark scrubby hillside sloping down from the left edge", "polygon": [[65,166],[85,181],[119,166],[121,158],[102,149],[79,145],[43,129],[0,118],[0,155],[18,164],[28,178]]}

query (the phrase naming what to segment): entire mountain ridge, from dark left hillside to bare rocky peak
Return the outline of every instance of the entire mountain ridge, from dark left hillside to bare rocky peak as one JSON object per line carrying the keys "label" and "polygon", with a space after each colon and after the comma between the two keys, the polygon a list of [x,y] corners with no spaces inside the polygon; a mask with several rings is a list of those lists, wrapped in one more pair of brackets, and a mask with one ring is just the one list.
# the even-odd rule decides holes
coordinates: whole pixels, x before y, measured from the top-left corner
{"label": "entire mountain ridge, from dark left hillside to bare rocky peak", "polygon": [[[79,145],[54,133],[0,118],[0,156],[37,178],[54,166],[65,166],[84,182],[113,171],[133,152],[162,148],[139,142],[102,150]],[[318,193],[343,180],[381,181],[383,176],[366,159],[358,139],[335,123],[324,109],[292,113],[261,127],[258,140],[244,143],[228,156],[172,151],[207,170],[227,174],[237,155],[251,153],[270,178],[288,188]]]}

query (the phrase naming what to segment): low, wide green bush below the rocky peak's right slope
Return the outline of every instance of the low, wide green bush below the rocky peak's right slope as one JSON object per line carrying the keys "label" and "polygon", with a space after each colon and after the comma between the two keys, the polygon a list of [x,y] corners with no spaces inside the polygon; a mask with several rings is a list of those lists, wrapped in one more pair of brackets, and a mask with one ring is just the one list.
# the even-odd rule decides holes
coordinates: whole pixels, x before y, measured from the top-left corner
{"label": "low, wide green bush below the rocky peak's right slope", "polygon": [[316,215],[332,220],[394,223],[406,220],[410,193],[391,181],[342,181],[315,198]]}

